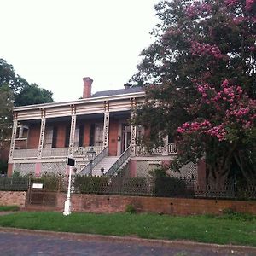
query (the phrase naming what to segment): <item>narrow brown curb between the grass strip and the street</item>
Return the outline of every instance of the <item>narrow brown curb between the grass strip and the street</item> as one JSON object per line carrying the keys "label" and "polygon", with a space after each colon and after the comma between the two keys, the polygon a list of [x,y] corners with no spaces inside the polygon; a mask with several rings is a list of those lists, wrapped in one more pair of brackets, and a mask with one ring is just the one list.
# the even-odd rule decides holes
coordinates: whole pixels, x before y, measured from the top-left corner
{"label": "narrow brown curb between the grass strip and the street", "polygon": [[255,253],[256,247],[247,246],[236,246],[236,245],[218,245],[212,243],[202,243],[195,241],[169,241],[169,240],[155,240],[155,239],[144,239],[133,236],[103,236],[103,235],[92,235],[92,234],[79,234],[79,233],[68,233],[68,232],[55,232],[46,230],[26,230],[16,228],[4,228],[0,227],[0,232],[9,232],[19,234],[26,234],[32,236],[48,236],[59,239],[68,239],[76,241],[101,241],[101,242],[118,242],[118,243],[131,243],[141,244],[150,247],[179,247],[183,249],[196,249],[205,248],[213,252],[218,253]]}

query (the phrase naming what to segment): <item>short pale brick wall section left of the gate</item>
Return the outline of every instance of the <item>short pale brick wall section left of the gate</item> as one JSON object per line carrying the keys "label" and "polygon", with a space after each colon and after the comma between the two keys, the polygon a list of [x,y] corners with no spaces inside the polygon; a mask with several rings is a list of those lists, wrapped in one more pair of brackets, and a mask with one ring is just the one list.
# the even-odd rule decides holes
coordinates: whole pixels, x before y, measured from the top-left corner
{"label": "short pale brick wall section left of the gate", "polygon": [[26,191],[0,191],[1,206],[25,207]]}

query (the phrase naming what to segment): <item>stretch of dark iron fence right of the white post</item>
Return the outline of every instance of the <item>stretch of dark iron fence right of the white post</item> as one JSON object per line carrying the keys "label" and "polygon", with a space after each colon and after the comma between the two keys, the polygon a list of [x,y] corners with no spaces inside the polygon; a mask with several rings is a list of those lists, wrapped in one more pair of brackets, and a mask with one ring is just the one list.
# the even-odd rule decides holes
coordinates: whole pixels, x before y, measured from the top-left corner
{"label": "stretch of dark iron fence right of the white post", "polygon": [[85,194],[148,195],[214,199],[256,199],[256,183],[198,185],[193,177],[75,177],[74,192]]}

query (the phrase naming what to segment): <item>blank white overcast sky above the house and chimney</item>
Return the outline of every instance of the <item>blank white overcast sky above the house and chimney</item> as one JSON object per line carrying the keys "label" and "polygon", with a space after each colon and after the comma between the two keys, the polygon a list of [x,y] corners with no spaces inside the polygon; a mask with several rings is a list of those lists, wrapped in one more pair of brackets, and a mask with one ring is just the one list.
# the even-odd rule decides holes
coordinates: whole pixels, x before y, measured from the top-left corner
{"label": "blank white overcast sky above the house and chimney", "polygon": [[0,58],[56,102],[123,88],[150,44],[159,0],[0,0]]}

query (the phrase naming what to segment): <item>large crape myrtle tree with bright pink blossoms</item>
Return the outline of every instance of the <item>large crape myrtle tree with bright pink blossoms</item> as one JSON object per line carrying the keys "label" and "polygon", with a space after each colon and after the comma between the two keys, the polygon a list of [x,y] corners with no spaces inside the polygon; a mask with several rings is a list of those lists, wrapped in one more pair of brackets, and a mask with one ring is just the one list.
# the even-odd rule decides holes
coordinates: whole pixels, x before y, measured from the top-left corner
{"label": "large crape myrtle tree with bright pink blossoms", "polygon": [[146,87],[133,119],[151,131],[144,143],[174,137],[173,164],[205,157],[219,185],[235,170],[255,179],[256,1],[161,1],[155,10],[155,42],[131,79]]}

